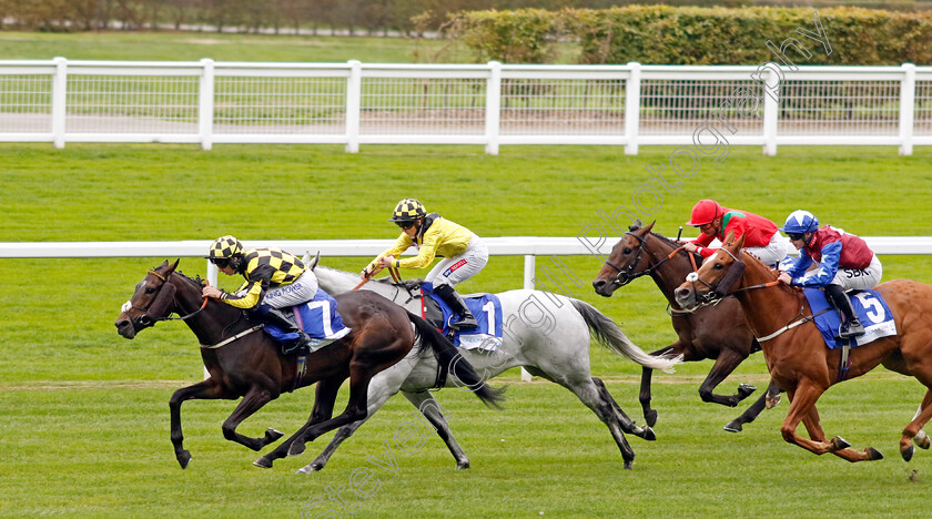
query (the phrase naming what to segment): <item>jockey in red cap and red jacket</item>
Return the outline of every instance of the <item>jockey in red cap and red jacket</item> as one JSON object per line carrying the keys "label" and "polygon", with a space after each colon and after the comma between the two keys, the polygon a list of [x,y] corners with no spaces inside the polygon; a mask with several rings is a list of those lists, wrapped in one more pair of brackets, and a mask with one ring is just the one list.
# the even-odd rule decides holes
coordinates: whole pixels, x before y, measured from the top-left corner
{"label": "jockey in red cap and red jacket", "polygon": [[787,257],[787,243],[777,232],[777,224],[747,211],[722,207],[713,200],[700,200],[686,225],[699,227],[701,234],[686,242],[685,248],[702,257],[715,254],[717,248],[709,248],[709,244],[716,238],[725,242],[729,231],[735,232],[736,240],[744,236],[744,251],[764,265],[776,267]]}

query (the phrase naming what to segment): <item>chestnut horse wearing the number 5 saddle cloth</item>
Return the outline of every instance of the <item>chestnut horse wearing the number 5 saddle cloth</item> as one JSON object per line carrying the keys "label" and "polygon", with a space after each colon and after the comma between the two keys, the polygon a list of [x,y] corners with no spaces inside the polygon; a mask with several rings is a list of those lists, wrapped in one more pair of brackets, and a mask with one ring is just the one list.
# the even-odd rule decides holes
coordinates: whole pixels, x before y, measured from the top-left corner
{"label": "chestnut horse wearing the number 5 saddle cloth", "polygon": [[[874,289],[890,306],[899,335],[851,348],[845,370],[843,348],[828,349],[809,322],[812,312],[802,291],[778,283],[770,268],[749,254],[742,256],[743,242],[743,236],[736,242],[729,233],[725,246],[676,289],[677,302],[692,308],[725,294],[738,298],[754,335],[764,338],[761,346],[770,376],[790,396],[790,410],[780,426],[783,439],[817,455],[831,452],[848,461],[883,457],[873,447],[859,451],[838,436],[825,438],[816,401],[830,386],[880,364],[915,377],[926,391],[920,413],[900,438],[900,454],[909,461],[914,450],[910,440],[932,417],[932,286],[906,279],[878,285]],[[811,440],[797,435],[800,421]]]}

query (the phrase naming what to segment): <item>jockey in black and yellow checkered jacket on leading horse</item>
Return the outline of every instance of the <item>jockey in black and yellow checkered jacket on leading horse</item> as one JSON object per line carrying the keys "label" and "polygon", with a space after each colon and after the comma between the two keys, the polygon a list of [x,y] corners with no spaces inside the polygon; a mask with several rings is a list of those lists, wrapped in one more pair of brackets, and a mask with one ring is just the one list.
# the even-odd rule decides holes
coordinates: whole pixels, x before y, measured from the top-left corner
{"label": "jockey in black and yellow checkered jacket on leading horse", "polygon": [[276,247],[244,248],[234,236],[221,236],[207,252],[207,260],[226,275],[242,274],[246,278],[235,292],[204,287],[204,295],[253,312],[259,317],[298,335],[297,346],[310,337],[278,308],[296,306],[314,298],[317,278],[297,256]]}

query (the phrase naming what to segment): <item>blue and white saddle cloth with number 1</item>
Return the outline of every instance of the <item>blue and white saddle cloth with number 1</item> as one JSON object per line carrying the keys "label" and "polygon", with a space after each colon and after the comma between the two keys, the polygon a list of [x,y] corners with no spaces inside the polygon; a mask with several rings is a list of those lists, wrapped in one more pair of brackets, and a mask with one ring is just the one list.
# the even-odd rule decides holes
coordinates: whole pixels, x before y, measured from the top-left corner
{"label": "blue and white saddle cloth with number 1", "polygon": [[472,294],[463,296],[466,307],[478,323],[476,329],[452,329],[449,322],[454,317],[447,304],[432,291],[434,285],[425,282],[421,285],[421,315],[437,327],[447,337],[453,337],[454,346],[464,349],[494,352],[502,346],[502,302],[495,294]]}

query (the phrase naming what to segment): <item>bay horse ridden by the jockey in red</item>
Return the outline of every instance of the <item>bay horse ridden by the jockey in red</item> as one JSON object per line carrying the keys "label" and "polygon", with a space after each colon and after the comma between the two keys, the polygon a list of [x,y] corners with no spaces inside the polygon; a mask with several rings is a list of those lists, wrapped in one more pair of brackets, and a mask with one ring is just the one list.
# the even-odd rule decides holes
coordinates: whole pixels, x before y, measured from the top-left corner
{"label": "bay horse ridden by the jockey in red", "polygon": [[[638,222],[628,228],[621,241],[611,248],[608,261],[592,282],[596,294],[611,297],[618,288],[640,276],[649,275],[670,303],[670,317],[677,333],[677,340],[673,344],[651,355],[682,355],[683,362],[716,359],[709,375],[699,386],[699,396],[702,401],[728,407],[738,406],[738,403],[754,391],[753,386],[741,384],[738,386],[738,393],[729,396],[716,395],[712,391],[742,360],[760,350],[760,345],[744,320],[741,305],[733,297],[728,297],[718,305],[708,306],[695,313],[683,312],[675,301],[673,289],[682,283],[682,279],[686,279],[687,274],[695,271],[702,257],[696,254],[690,258],[690,253],[678,243],[651,232],[652,223],[641,227]],[[641,372],[639,395],[644,417],[647,419],[647,425],[651,427],[657,421],[657,410],[650,407],[652,373],[654,370],[649,367],[645,367]],[[753,421],[763,410],[768,395],[776,405],[779,388],[772,383],[767,394],[761,395],[741,416],[729,421],[725,430],[738,432],[742,424]]]}

